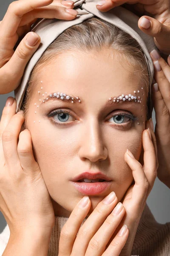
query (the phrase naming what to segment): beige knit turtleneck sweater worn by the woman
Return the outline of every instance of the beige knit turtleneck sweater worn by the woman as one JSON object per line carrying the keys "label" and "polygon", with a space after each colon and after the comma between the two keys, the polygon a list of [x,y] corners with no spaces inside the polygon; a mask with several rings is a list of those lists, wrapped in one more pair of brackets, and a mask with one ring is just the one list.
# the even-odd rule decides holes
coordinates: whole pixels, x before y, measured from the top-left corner
{"label": "beige knit turtleneck sweater worn by the woman", "polygon": [[[56,217],[51,233],[48,256],[58,256],[59,236],[67,220],[66,217]],[[83,220],[82,224],[85,221],[86,219]],[[0,256],[6,248],[9,236],[10,230],[6,225],[0,234]],[[131,256],[170,256],[170,222],[166,224],[156,222],[147,204],[139,222]]]}

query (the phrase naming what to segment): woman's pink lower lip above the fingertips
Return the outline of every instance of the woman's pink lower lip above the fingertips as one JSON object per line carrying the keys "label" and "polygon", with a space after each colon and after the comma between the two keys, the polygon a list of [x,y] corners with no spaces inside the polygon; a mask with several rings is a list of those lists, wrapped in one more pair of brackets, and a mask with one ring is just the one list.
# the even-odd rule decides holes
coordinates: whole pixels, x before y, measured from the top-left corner
{"label": "woman's pink lower lip above the fingertips", "polygon": [[107,190],[111,186],[111,181],[103,182],[78,182],[71,181],[73,186],[82,194],[85,195],[98,195]]}

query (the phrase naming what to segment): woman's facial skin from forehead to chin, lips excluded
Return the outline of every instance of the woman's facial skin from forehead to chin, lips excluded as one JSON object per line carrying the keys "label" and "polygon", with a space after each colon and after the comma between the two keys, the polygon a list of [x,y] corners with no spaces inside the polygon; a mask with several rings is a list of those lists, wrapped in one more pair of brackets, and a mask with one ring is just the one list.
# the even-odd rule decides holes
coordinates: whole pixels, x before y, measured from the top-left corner
{"label": "woman's facial skin from forehead to chin, lips excluded", "polygon": [[[82,102],[71,103],[55,97],[55,100],[42,103],[49,94],[57,92],[78,96]],[[122,94],[131,94],[137,99],[140,96],[142,101],[116,103],[109,100]],[[91,209],[88,215],[111,191],[116,193],[118,202],[122,200],[133,182],[132,170],[124,155],[128,148],[139,160],[146,99],[146,92],[139,84],[139,74],[133,72],[126,61],[120,64],[114,60],[111,49],[88,55],[65,52],[40,70],[26,116],[26,128],[31,132],[35,159],[56,216],[69,217],[85,195],[75,189],[71,180],[87,170],[102,172],[112,180],[104,192],[89,195]],[[66,112],[63,115],[54,113],[60,110]],[[52,111],[54,116],[48,117]],[[132,115],[138,119],[130,119]]]}

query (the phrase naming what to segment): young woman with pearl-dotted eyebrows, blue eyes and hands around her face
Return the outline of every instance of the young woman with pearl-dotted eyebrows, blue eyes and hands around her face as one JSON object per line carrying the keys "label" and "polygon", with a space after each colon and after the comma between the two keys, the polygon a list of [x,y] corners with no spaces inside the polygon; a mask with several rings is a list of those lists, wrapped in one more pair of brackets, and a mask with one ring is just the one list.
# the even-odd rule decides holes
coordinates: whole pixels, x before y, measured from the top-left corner
{"label": "young woman with pearl-dotted eyebrows, blue eyes and hands around her face", "polygon": [[148,89],[139,45],[99,18],[48,47],[23,112],[15,114],[14,100],[0,122],[0,208],[10,229],[3,256],[167,255],[170,223],[156,223],[146,205],[158,168]]}

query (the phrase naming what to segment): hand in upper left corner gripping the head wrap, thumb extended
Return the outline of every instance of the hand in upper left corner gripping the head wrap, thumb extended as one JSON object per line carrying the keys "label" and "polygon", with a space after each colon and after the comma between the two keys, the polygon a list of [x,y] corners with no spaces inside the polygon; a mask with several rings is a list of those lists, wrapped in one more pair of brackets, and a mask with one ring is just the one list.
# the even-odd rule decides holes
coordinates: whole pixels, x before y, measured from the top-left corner
{"label": "hand in upper left corner gripping the head wrap, thumb extended", "polygon": [[[74,2],[70,0],[19,0],[9,5],[0,21],[0,94],[18,87],[26,64],[40,45],[40,36],[29,32],[31,25],[37,18],[73,20],[78,13],[73,8]],[[20,38],[23,39],[14,51]]]}

